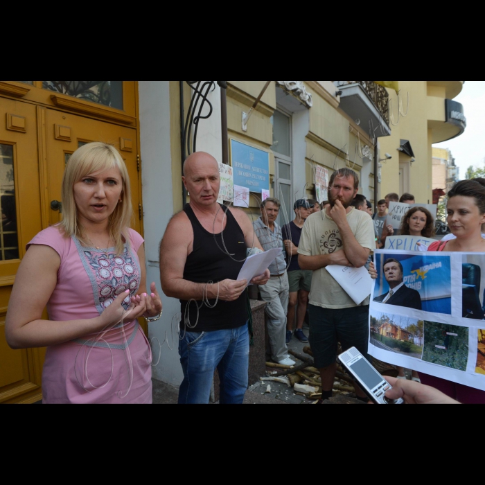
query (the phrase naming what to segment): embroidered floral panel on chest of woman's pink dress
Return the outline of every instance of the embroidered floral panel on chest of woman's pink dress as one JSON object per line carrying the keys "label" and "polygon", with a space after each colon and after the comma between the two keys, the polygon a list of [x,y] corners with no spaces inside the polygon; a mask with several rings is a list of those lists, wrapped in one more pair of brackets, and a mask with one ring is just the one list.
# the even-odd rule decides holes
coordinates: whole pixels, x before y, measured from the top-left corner
{"label": "embroidered floral panel on chest of woman's pink dress", "polygon": [[141,271],[127,245],[123,254],[117,256],[114,249],[106,254],[98,249],[82,247],[76,239],[75,242],[93,285],[94,301],[99,314],[126,290],[130,290],[130,296],[126,297],[123,306],[125,309],[130,308],[131,297],[139,288]]}

